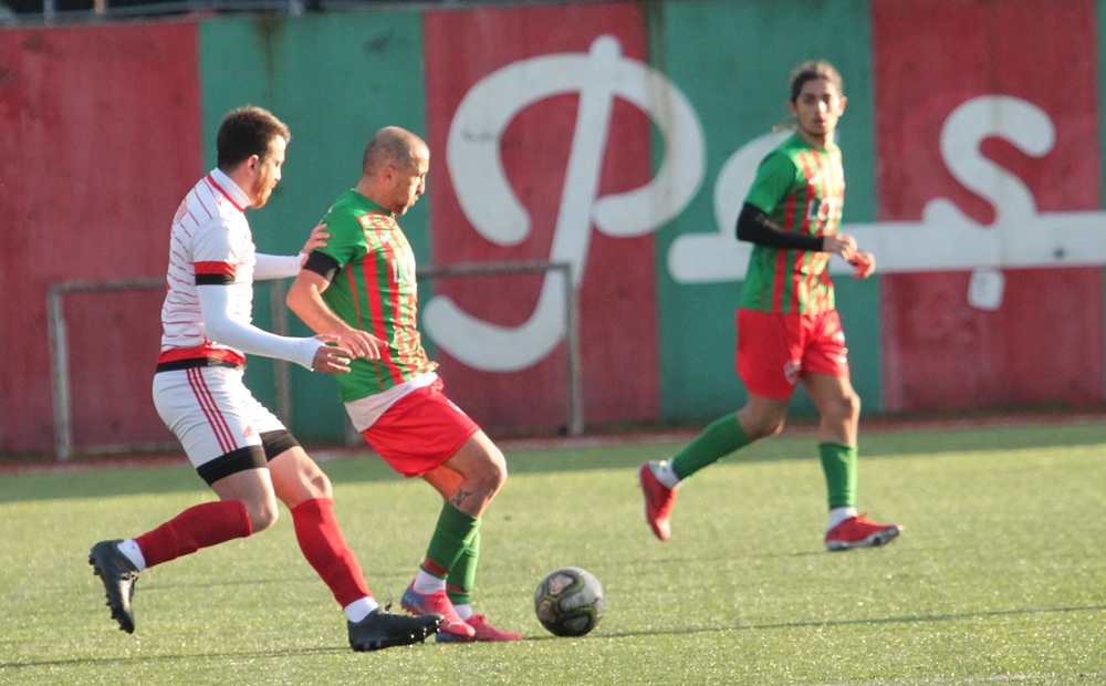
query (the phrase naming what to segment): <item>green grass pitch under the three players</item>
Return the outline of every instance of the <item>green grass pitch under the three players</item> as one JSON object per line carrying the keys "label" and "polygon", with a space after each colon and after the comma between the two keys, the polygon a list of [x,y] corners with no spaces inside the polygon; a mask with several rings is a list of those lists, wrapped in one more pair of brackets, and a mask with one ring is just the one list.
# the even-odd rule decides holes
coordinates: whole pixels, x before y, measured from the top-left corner
{"label": "green grass pitch under the three players", "polygon": [[[666,543],[634,468],[672,445],[512,449],[477,606],[525,640],[362,654],[286,516],[145,572],[137,631],[115,628],[87,550],[211,499],[182,460],[0,477],[0,683],[1106,683],[1106,426],[868,432],[860,506],[906,531],[833,554],[814,440],[785,435],[690,479]],[[375,458],[325,468],[371,586],[398,606],[439,503]],[[565,564],[606,590],[583,638],[533,614],[538,581]]]}

